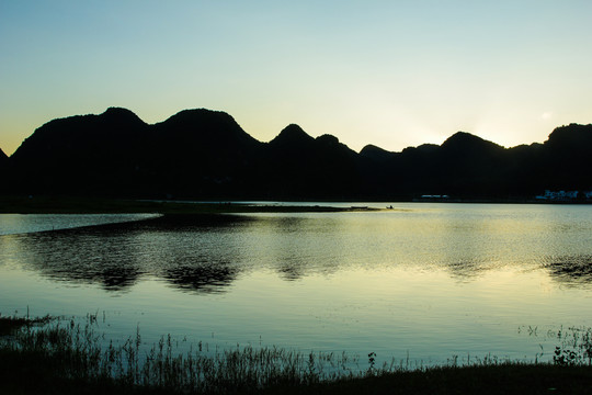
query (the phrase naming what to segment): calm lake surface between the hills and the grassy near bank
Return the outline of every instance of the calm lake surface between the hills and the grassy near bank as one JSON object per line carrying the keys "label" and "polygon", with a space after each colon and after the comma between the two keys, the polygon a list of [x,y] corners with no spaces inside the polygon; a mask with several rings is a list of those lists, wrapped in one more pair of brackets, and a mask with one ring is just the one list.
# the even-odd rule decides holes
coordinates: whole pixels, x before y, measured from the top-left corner
{"label": "calm lake surface between the hills and the grassy near bank", "polygon": [[147,343],[171,334],[424,364],[550,358],[553,340],[528,327],[592,326],[592,206],[395,208],[0,215],[0,313],[99,312],[113,338],[139,326]]}

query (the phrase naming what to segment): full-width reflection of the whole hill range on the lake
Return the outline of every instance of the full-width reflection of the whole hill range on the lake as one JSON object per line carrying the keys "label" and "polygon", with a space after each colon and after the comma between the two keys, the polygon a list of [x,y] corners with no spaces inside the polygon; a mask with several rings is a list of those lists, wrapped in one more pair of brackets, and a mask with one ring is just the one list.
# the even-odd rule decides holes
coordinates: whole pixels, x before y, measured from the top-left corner
{"label": "full-width reflection of the whole hill range on the lake", "polygon": [[[387,213],[164,216],[0,236],[0,262],[59,281],[125,291],[143,278],[197,293],[240,273],[273,270],[295,281],[348,268],[448,271],[471,281],[506,266],[543,268],[568,285],[592,280],[592,218],[537,210],[423,208]],[[486,207],[487,208],[487,207]],[[580,208],[588,214],[588,211]],[[581,213],[580,213],[581,214]]]}

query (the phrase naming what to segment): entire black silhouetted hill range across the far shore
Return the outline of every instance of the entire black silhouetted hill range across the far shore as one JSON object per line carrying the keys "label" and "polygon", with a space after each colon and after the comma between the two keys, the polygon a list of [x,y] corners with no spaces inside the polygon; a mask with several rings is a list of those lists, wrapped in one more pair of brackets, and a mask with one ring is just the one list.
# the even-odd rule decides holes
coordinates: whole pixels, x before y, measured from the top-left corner
{"label": "entire black silhouetted hill range across the far shore", "polygon": [[[1,153],[1,151],[0,151]],[[111,108],[54,120],[0,170],[15,193],[192,199],[396,200],[530,198],[592,190],[592,125],[556,128],[544,144],[504,148],[465,132],[442,145],[360,154],[298,125],[270,143],[224,112],[184,110],[153,125]]]}

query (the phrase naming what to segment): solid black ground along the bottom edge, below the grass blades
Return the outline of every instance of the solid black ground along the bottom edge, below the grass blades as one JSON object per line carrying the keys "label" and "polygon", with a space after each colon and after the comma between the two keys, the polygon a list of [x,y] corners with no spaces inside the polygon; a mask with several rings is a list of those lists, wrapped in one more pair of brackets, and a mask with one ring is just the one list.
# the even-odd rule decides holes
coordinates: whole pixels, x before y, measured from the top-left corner
{"label": "solid black ground along the bottom edge, below the grass blades", "polygon": [[433,368],[323,384],[278,383],[267,387],[205,391],[129,385],[117,380],[65,379],[52,359],[35,354],[0,353],[2,394],[590,394],[592,368],[549,364]]}

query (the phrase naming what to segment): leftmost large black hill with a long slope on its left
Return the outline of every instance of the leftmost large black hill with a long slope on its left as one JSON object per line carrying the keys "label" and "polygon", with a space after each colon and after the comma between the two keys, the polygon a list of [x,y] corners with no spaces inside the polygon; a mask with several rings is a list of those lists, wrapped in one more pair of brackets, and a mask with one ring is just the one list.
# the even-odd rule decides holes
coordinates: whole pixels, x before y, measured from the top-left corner
{"label": "leftmost large black hill with a long slope on its left", "polygon": [[147,134],[148,125],[124,109],[50,121],[11,156],[14,184],[31,193],[125,190]]}

